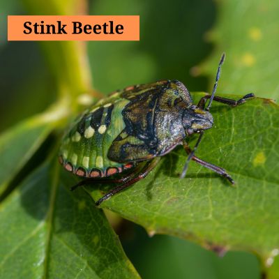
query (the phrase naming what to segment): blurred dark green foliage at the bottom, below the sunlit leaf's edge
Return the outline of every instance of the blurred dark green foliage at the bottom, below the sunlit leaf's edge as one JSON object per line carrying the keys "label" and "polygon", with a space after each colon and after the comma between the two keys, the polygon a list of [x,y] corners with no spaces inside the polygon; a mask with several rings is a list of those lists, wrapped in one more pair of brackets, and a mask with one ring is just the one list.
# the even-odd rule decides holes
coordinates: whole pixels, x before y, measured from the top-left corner
{"label": "blurred dark green foliage at the bottom, below the sunlit leaf's edge", "polygon": [[134,227],[136,241],[123,241],[123,247],[142,278],[259,279],[258,259],[248,252],[218,257],[190,241],[160,234],[150,238]]}

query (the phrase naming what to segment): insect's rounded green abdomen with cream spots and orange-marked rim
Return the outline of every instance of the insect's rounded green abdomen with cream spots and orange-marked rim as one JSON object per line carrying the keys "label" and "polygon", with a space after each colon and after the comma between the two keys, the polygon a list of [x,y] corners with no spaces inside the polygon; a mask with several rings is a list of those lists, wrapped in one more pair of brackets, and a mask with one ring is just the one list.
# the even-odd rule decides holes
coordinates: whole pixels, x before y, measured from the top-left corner
{"label": "insect's rounded green abdomen with cream spots and orange-marked rim", "polygon": [[93,107],[78,119],[63,138],[60,163],[73,174],[84,177],[111,176],[133,167],[107,158],[113,140],[125,128],[122,110],[129,103],[118,99]]}

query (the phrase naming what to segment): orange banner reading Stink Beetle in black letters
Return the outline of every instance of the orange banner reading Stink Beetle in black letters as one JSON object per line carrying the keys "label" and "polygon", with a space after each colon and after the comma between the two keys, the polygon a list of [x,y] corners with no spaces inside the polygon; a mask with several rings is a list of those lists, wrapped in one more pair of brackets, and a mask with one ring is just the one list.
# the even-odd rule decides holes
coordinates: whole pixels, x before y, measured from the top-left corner
{"label": "orange banner reading Stink Beetle in black letters", "polygon": [[8,15],[8,40],[140,40],[140,16]]}

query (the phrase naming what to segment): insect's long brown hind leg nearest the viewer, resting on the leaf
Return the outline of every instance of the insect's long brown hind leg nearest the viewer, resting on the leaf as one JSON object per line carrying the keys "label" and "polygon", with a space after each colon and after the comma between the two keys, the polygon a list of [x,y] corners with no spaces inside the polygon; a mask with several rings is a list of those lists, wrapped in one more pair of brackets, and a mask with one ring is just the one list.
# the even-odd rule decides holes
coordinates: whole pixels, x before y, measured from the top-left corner
{"label": "insect's long brown hind leg nearest the viewer, resting on the leaf", "polygon": [[96,206],[100,205],[103,201],[105,201],[106,199],[109,199],[110,197],[112,197],[116,193],[119,193],[121,190],[124,190],[124,189],[128,188],[129,186],[136,183],[137,181],[139,181],[141,179],[144,179],[144,177],[146,177],[147,174],[149,174],[149,172],[151,172],[151,170],[154,167],[156,167],[159,160],[160,160],[160,157],[156,157],[153,160],[148,161],[146,163],[146,165],[144,165],[144,167],[142,167],[140,172],[135,174],[135,176],[132,179],[130,179],[130,180],[124,182],[123,184],[117,186],[116,188],[112,189],[109,193],[107,193],[106,195],[104,195],[103,197],[98,199],[98,201],[96,202]]}

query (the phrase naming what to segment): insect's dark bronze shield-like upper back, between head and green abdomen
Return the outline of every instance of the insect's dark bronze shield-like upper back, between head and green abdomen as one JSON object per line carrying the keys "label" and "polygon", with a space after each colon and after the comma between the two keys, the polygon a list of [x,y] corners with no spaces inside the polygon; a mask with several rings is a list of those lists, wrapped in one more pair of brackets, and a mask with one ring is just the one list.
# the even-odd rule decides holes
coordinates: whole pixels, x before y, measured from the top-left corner
{"label": "insect's dark bronze shield-like upper back, between head and green abdomen", "polygon": [[130,100],[122,111],[126,127],[110,146],[110,160],[149,160],[167,153],[185,137],[181,119],[192,98],[181,82],[137,86],[121,97]]}

